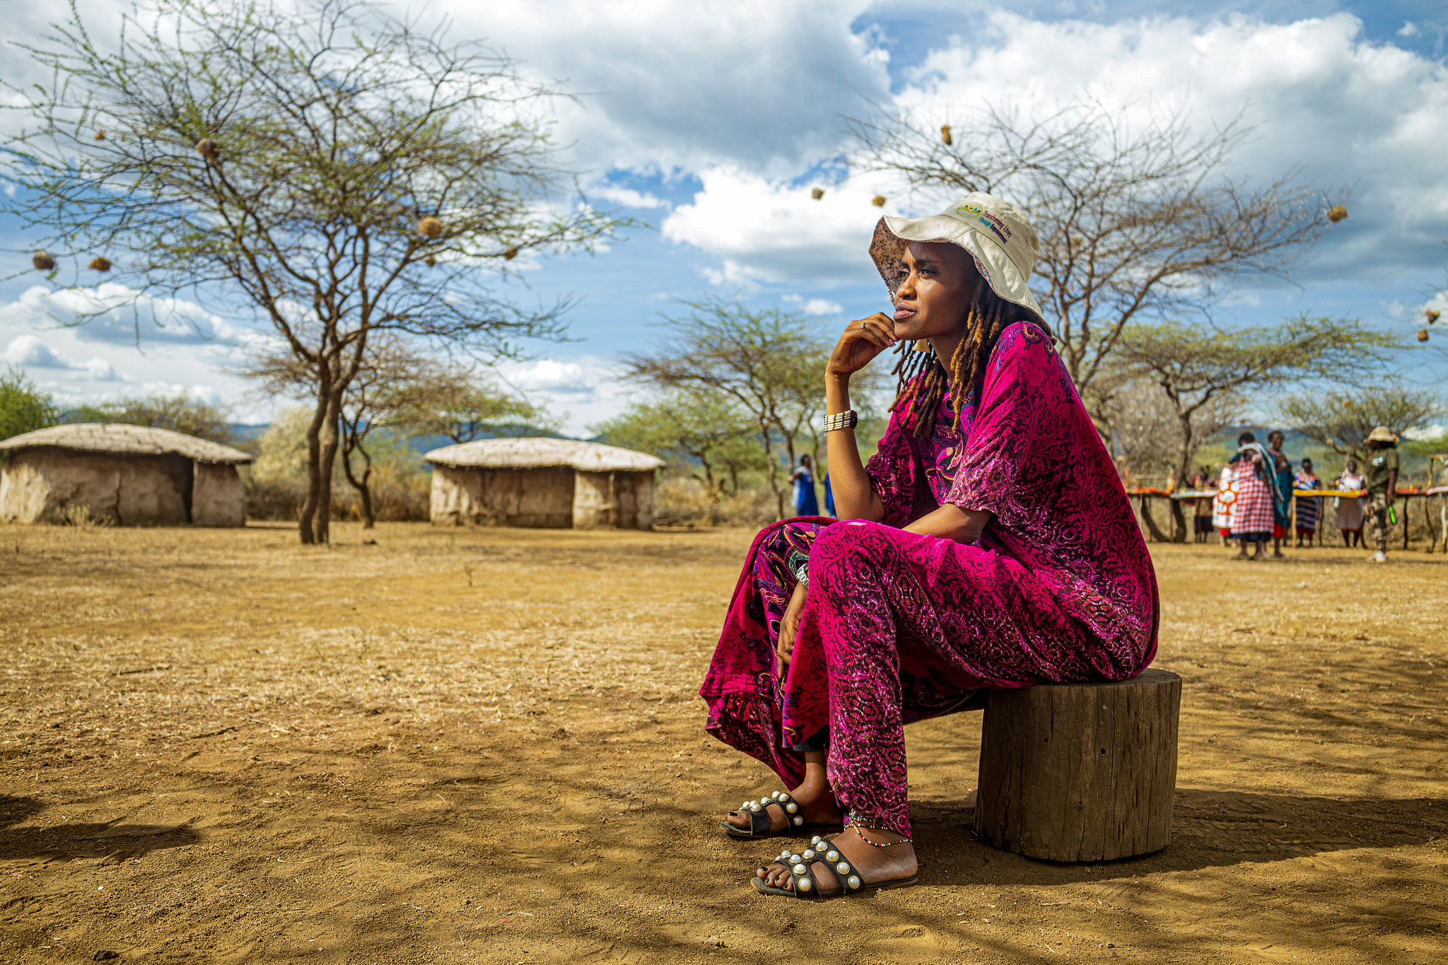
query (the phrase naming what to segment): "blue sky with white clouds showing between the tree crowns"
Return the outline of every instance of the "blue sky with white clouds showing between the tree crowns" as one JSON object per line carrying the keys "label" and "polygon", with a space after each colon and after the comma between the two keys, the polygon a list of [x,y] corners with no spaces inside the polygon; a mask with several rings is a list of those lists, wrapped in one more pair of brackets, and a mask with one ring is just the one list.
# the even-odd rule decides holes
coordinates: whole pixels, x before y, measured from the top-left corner
{"label": "blue sky with white clouds showing between the tree crowns", "polygon": [[[114,4],[83,12],[114,23]],[[607,252],[527,260],[510,285],[523,299],[578,298],[573,341],[531,346],[507,375],[566,411],[568,428],[617,412],[620,352],[659,337],[679,299],[741,295],[808,313],[822,331],[883,307],[864,246],[879,214],[925,213],[909,197],[834,161],[844,116],[866,103],[924,113],[1014,103],[1044,111],[1083,95],[1125,114],[1170,107],[1206,129],[1237,113],[1255,135],[1237,177],[1300,166],[1321,187],[1352,188],[1352,216],[1290,284],[1232,292],[1222,317],[1270,323],[1309,311],[1416,328],[1448,266],[1448,7],[1442,3],[1248,4],[1034,1],[883,4],[814,0],[685,4],[663,0],[494,0],[411,7],[449,16],[540,80],[582,93],[560,106],[568,162],[589,198],[652,224]],[[12,32],[35,36],[39,10]],[[12,82],[29,77],[0,52]],[[9,123],[14,123],[13,120]],[[822,201],[809,187],[828,187]],[[0,243],[28,252],[14,224]],[[26,255],[0,256],[22,268]],[[12,269],[13,271],[13,269]],[[9,272],[0,272],[0,275]],[[104,292],[100,292],[104,297]],[[158,330],[142,314],[55,330],[75,292],[35,273],[0,282],[0,357],[65,402],[184,389],[265,421],[275,401],[245,398],[224,372],[246,339],[224,305],[181,305],[209,339]],[[1448,336],[1448,331],[1445,331]]]}

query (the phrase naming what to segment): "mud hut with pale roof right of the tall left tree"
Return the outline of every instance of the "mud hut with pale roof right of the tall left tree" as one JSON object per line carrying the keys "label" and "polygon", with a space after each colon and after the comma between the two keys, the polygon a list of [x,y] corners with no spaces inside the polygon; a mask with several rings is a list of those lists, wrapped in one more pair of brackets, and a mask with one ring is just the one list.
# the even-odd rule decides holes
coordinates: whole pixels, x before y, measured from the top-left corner
{"label": "mud hut with pale roof right of the tall left tree", "polygon": [[434,449],[434,525],[586,530],[653,525],[653,472],[663,460],[566,438],[485,438]]}

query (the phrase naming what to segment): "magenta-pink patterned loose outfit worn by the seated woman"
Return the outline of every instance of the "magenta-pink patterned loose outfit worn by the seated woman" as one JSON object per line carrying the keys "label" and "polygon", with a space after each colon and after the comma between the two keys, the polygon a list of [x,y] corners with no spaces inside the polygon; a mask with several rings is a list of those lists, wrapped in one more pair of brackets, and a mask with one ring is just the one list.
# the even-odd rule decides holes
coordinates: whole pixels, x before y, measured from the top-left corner
{"label": "magenta-pink patterned loose outfit worn by the seated woman", "polygon": [[[804,775],[796,744],[827,735],[847,820],[909,833],[905,734],[979,707],[985,690],[1122,680],[1157,648],[1151,557],[1131,503],[1040,327],[1001,336],[959,431],[891,418],[866,472],[882,522],[791,519],[754,540],[701,696],[710,734]],[[995,514],[975,545],[904,532],[943,503]],[[807,560],[807,563],[805,563]],[[794,658],[775,641],[808,566]]]}

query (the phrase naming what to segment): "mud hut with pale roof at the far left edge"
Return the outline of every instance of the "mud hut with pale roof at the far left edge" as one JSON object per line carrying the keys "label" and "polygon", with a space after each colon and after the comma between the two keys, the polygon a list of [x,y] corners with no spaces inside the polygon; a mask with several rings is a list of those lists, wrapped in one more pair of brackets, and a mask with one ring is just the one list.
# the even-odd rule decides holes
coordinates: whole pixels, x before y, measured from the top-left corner
{"label": "mud hut with pale roof at the far left edge", "polygon": [[0,441],[0,519],[240,527],[243,451],[145,425],[52,425]]}

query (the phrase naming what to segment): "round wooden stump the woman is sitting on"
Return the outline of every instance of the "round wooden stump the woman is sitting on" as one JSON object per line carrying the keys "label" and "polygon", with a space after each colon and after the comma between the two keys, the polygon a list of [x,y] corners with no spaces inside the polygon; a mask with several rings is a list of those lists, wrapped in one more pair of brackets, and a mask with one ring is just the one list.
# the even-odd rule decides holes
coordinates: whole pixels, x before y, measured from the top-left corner
{"label": "round wooden stump the woman is sitting on", "polygon": [[992,690],[976,835],[1048,861],[1109,861],[1171,839],[1182,677]]}

